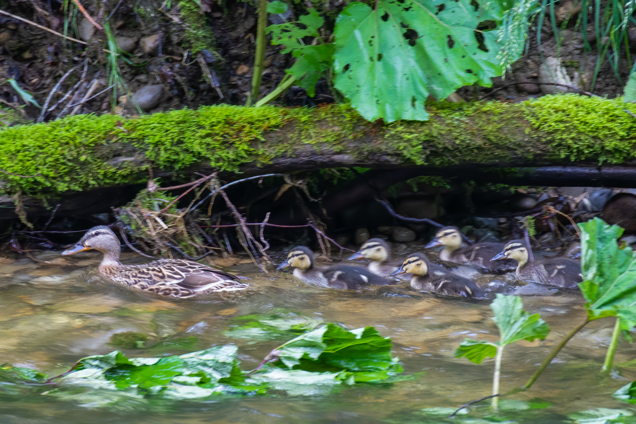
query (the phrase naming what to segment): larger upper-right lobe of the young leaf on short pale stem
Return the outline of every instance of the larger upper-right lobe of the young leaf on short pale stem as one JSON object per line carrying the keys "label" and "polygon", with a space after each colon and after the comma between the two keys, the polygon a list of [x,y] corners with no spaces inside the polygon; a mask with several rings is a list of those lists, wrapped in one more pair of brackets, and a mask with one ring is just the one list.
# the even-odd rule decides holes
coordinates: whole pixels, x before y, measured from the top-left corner
{"label": "larger upper-right lobe of the young leaf on short pale stem", "polygon": [[541,319],[541,315],[523,311],[520,296],[506,296],[497,293],[496,299],[490,304],[495,313],[492,320],[499,327],[501,346],[515,343],[515,341],[544,339],[550,332],[550,325]]}

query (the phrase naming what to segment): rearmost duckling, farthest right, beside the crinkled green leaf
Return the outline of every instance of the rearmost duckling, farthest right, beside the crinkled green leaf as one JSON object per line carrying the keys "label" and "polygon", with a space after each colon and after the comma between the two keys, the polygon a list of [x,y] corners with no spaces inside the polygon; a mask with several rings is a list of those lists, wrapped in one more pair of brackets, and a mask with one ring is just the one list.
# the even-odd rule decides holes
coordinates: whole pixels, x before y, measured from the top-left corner
{"label": "rearmost duckling, farthest right, beside the crinkled green leaf", "polygon": [[528,247],[523,240],[512,240],[491,261],[515,259],[518,262],[515,274],[518,280],[536,282],[556,287],[574,289],[583,281],[581,263],[569,257],[550,257],[529,262]]}

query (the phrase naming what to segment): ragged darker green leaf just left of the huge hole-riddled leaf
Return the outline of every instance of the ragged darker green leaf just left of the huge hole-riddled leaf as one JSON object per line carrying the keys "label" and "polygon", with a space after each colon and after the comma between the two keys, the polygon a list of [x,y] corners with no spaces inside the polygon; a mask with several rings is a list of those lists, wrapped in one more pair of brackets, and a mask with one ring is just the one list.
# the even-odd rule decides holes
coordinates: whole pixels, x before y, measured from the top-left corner
{"label": "ragged darker green leaf just left of the huge hole-riddled leaf", "polygon": [[302,39],[314,37],[320,40],[318,29],[323,23],[324,19],[318,12],[315,9],[310,9],[308,15],[299,18],[298,23],[286,22],[267,27],[267,31],[272,34],[272,44],[285,45],[285,49],[281,50],[280,53],[291,53],[293,57],[297,58],[296,63],[286,72],[296,78],[298,85],[304,88],[310,97],[315,95],[315,85],[322,72],[331,67],[333,44],[305,45]]}

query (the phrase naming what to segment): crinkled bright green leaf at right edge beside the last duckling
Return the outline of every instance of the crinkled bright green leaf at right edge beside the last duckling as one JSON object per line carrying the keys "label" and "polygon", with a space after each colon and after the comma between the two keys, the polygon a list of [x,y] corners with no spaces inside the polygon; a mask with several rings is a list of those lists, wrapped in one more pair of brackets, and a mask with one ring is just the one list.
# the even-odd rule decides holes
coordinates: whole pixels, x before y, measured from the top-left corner
{"label": "crinkled bright green leaf at right edge beside the last duckling", "polygon": [[636,325],[636,257],[628,245],[618,245],[623,229],[599,218],[579,224],[581,272],[579,284],[588,318],[621,318],[621,330]]}

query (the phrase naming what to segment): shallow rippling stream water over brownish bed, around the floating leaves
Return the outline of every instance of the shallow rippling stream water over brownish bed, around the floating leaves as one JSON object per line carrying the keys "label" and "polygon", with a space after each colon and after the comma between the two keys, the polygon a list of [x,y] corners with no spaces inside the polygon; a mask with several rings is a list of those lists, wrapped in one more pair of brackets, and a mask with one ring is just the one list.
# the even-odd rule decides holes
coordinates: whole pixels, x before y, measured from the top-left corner
{"label": "shallow rippling stream water over brownish bed, around the floating leaves", "polygon": [[[358,292],[319,289],[276,271],[254,273],[251,264],[231,270],[254,277],[255,292],[227,299],[167,299],[102,280],[95,273],[97,252],[64,258],[41,252],[38,257],[53,264],[1,259],[0,362],[57,375],[81,357],[115,350],[107,345],[113,334],[136,331],[149,336],[148,345],[165,341],[160,345],[163,350],[158,346],[124,350],[131,357],[181,354],[234,343],[239,346],[242,368],[252,369],[280,341],[234,338],[228,334],[235,325],[232,318],[283,309],[351,329],[374,325],[383,336],[391,336],[393,353],[401,359],[405,373],[422,374],[393,385],[361,385],[326,395],[219,397],[139,411],[90,409],[41,394],[46,387],[16,397],[11,393],[17,389],[6,384],[0,385],[3,424],[437,423],[453,420],[446,418],[448,413],[436,415],[427,408],[457,408],[490,394],[493,360],[477,365],[453,355],[464,338],[497,339],[490,299],[436,296],[400,286]],[[124,262],[145,260],[128,255]],[[502,392],[525,383],[552,346],[585,316],[583,298],[573,292],[547,291],[542,296],[525,296],[523,303],[525,310],[541,313],[552,331],[544,341],[522,341],[506,348]],[[636,413],[629,404],[611,397],[619,387],[636,380],[636,367],[620,366],[636,357],[636,348],[621,341],[615,358],[619,366],[609,377],[600,374],[613,325],[607,319],[585,327],[531,390],[502,399],[499,416],[493,418],[487,402],[481,402],[461,419],[561,423],[573,422],[567,414],[597,407]],[[184,339],[190,344],[177,345]]]}

